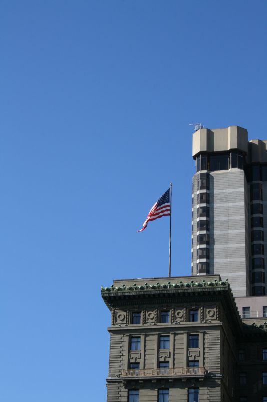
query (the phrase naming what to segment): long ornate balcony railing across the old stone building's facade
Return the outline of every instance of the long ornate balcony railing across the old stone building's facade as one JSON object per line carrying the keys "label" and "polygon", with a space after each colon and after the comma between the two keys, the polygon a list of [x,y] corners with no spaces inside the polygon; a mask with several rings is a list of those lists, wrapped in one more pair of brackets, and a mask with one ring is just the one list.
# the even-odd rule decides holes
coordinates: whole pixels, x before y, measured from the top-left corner
{"label": "long ornate balcony railing across the old stone building's facade", "polygon": [[204,376],[204,367],[181,367],[181,368],[148,368],[145,370],[122,370],[121,377],[194,377]]}

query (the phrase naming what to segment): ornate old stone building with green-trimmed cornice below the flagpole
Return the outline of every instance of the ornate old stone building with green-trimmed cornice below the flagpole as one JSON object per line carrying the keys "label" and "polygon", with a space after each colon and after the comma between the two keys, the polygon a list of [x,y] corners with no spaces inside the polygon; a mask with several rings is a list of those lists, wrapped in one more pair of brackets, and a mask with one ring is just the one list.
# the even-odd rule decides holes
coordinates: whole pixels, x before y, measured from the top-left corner
{"label": "ornate old stone building with green-trimmed cornice below the flagpole", "polygon": [[111,312],[108,402],[267,401],[264,319],[243,322],[229,283],[202,279],[101,289]]}

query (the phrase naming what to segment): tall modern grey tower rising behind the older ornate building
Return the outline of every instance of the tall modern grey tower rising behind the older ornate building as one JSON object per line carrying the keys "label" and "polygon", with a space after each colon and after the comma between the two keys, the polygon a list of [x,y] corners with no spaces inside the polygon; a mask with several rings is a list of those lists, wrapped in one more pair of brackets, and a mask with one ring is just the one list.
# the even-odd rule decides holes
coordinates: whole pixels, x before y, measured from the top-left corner
{"label": "tall modern grey tower rising behind the older ornate building", "polygon": [[266,144],[238,126],[193,134],[192,274],[228,278],[237,297],[266,293]]}

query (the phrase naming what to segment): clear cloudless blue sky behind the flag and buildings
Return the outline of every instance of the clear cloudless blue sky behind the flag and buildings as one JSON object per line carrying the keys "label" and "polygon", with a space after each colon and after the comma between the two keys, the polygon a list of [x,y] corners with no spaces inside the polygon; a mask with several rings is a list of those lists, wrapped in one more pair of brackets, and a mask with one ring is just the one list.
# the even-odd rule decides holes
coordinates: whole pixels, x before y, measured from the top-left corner
{"label": "clear cloudless blue sky behind the flag and buildings", "polygon": [[266,139],[267,4],[2,0],[5,402],[105,400],[100,286],[190,274],[192,127]]}

